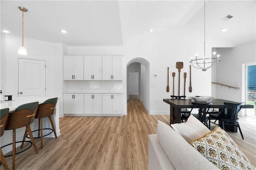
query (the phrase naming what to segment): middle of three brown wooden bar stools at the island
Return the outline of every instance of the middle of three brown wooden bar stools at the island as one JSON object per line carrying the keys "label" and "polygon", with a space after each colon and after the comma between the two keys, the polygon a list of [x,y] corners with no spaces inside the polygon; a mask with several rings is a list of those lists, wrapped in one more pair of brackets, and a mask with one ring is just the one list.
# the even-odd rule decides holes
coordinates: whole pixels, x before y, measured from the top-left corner
{"label": "middle of three brown wooden bar stools at the island", "polygon": [[[16,153],[16,129],[21,127],[26,127],[28,131],[31,142],[34,146],[36,154],[38,150],[36,148],[36,143],[34,141],[30,124],[34,122],[36,111],[38,108],[38,101],[33,103],[27,103],[20,105],[16,108],[15,112],[9,113],[8,121],[5,130],[12,130],[12,169],[15,169],[15,154]],[[19,152],[20,153],[20,152]]]}

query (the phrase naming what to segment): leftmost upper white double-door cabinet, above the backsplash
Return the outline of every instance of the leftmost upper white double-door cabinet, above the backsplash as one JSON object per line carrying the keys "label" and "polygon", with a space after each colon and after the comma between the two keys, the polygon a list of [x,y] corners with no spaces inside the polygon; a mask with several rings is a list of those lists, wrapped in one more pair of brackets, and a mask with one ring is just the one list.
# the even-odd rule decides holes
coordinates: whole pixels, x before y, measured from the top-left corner
{"label": "leftmost upper white double-door cabinet, above the backsplash", "polygon": [[63,79],[83,80],[84,79],[84,56],[63,57]]}

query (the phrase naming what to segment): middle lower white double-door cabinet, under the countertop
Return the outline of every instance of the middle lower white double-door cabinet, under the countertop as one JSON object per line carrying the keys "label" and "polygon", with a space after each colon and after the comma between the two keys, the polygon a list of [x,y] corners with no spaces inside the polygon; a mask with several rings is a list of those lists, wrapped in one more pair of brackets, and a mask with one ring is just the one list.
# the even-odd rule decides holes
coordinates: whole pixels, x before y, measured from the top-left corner
{"label": "middle lower white double-door cabinet, under the countertop", "polygon": [[102,114],[102,94],[84,94],[84,114]]}

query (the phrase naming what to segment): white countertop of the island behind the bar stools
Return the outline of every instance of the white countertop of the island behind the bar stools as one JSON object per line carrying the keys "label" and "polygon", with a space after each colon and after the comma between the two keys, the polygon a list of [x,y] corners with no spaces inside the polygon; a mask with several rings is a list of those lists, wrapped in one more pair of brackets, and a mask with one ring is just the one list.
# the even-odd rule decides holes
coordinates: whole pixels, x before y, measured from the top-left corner
{"label": "white countertop of the island behind the bar stools", "polygon": [[[44,103],[44,101],[46,101],[47,99],[51,99],[54,97],[12,97],[12,101],[4,101],[2,103],[0,103],[0,109],[4,109],[4,108],[9,108],[10,112],[11,111],[15,111],[15,109],[23,104],[26,103],[32,103],[35,101],[38,101],[39,104]],[[58,97],[58,99],[60,99]]]}

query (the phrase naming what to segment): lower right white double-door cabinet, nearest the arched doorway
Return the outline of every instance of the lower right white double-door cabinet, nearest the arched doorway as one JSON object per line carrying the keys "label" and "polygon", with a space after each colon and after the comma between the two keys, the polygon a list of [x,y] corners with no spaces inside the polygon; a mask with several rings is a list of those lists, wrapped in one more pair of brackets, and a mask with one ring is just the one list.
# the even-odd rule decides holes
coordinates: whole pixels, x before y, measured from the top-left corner
{"label": "lower right white double-door cabinet, nearest the arched doorway", "polygon": [[122,94],[102,94],[102,114],[122,114]]}

